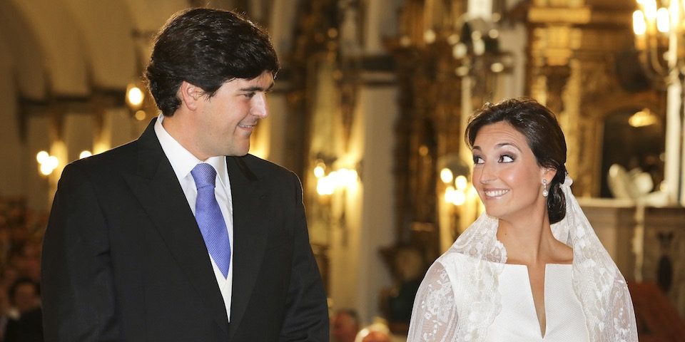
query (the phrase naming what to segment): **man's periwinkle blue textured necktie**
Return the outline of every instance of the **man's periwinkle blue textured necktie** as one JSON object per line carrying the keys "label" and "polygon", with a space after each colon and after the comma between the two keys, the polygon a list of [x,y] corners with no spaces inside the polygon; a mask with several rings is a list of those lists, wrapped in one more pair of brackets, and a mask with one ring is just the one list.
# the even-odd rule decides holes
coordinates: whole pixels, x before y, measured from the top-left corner
{"label": "man's periwinkle blue textured necktie", "polygon": [[191,171],[195,185],[198,188],[198,198],[195,202],[195,219],[200,227],[205,246],[209,254],[219,267],[223,277],[228,276],[230,265],[230,243],[228,230],[223,220],[221,209],[214,196],[216,170],[212,165],[201,162]]}

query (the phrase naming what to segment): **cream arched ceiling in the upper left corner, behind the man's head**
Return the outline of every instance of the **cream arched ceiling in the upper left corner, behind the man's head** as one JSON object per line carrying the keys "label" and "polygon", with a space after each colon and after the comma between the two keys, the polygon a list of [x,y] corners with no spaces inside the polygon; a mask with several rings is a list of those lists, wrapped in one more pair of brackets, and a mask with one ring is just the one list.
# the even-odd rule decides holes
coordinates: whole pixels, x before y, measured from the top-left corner
{"label": "cream arched ceiling in the upper left corner, behind the man's head", "polygon": [[140,78],[153,33],[171,14],[198,2],[233,1],[8,0],[0,6],[0,61],[11,66],[22,98],[87,97],[123,90]]}

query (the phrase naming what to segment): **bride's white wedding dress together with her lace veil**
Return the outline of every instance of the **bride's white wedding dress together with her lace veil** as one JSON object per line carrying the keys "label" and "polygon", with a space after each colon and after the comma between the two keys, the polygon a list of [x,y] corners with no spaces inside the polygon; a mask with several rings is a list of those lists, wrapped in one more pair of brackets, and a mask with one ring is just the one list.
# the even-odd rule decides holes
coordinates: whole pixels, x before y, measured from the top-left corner
{"label": "bride's white wedding dress together with her lace veil", "polygon": [[544,338],[527,267],[506,264],[497,219],[482,214],[428,270],[417,292],[407,342],[637,341],[626,282],[587,221],[567,177],[567,213],[552,233],[573,264],[547,265]]}

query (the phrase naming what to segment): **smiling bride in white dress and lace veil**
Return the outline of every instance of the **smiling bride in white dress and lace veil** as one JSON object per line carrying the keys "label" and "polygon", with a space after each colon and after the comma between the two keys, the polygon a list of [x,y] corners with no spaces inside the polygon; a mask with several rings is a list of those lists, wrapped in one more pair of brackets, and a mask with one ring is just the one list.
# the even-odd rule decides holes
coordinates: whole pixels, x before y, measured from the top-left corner
{"label": "smiling bride in white dress and lace veil", "polygon": [[466,140],[482,214],[427,271],[407,341],[637,341],[624,277],[571,193],[554,114],[486,104]]}

